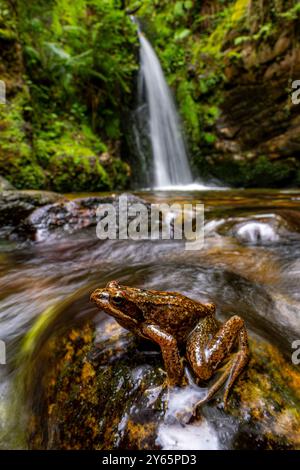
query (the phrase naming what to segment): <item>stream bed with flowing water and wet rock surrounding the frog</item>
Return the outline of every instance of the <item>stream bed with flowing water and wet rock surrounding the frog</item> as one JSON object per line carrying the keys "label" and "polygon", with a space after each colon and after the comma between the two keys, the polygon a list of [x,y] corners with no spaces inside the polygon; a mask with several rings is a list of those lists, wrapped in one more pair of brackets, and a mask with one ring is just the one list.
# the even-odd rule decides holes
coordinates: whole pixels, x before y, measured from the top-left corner
{"label": "stream bed with flowing water and wet rock surrounding the frog", "polygon": [[[68,231],[65,212],[58,214],[63,230],[39,227],[30,240],[3,235],[1,448],[299,449],[300,366],[292,357],[300,340],[300,192],[136,196],[204,203],[203,249],[186,251],[174,240],[100,241],[93,224]],[[159,351],[89,301],[113,279],[214,302],[221,321],[245,320],[251,360],[228,410],[221,393],[191,422],[208,384],[190,377],[185,388],[165,386]]]}

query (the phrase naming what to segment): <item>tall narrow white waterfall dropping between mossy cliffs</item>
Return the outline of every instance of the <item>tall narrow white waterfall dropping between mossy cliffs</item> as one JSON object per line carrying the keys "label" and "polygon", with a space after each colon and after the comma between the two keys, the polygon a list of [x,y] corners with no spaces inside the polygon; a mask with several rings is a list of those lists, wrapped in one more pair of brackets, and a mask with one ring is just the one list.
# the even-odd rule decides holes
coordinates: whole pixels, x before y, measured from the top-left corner
{"label": "tall narrow white waterfall dropping between mossy cliffs", "polygon": [[152,149],[154,186],[193,182],[180,119],[159,59],[138,30],[140,40],[139,101],[147,103],[148,132]]}

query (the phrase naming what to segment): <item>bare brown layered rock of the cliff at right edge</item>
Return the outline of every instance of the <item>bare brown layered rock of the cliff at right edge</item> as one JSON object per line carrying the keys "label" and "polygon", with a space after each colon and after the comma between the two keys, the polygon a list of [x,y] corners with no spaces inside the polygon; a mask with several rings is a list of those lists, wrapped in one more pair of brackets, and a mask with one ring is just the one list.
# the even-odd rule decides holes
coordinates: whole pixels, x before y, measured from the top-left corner
{"label": "bare brown layered rock of the cliff at right edge", "polygon": [[[248,7],[249,37],[239,44],[233,30],[225,45],[224,96],[215,125],[212,161],[218,165],[224,159],[262,162],[264,158],[274,170],[281,169],[282,183],[295,179],[299,184],[300,107],[292,102],[293,81],[300,77],[299,27],[292,15],[279,17],[277,25],[272,23],[270,11],[265,9],[268,34],[264,37],[260,33],[264,26],[253,21],[255,7],[254,2]],[[228,54],[233,52],[236,57],[231,61]],[[271,176],[266,175],[268,185],[276,183]],[[255,185],[255,180],[249,183]],[[261,183],[260,177],[258,185]]]}

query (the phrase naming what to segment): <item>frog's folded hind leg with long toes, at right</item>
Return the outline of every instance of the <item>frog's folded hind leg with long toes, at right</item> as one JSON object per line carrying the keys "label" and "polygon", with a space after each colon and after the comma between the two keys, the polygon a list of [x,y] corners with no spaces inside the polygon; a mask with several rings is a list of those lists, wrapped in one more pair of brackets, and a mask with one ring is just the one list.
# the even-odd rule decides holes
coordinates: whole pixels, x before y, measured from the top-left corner
{"label": "frog's folded hind leg with long toes, at right", "polygon": [[238,340],[238,352],[228,363],[225,371],[208,391],[207,396],[196,407],[208,401],[227,380],[224,393],[226,407],[229,391],[249,359],[248,336],[244,320],[235,315],[221,328],[211,315],[197,325],[187,342],[187,358],[197,375],[202,380],[212,377],[221,362],[229,355]]}

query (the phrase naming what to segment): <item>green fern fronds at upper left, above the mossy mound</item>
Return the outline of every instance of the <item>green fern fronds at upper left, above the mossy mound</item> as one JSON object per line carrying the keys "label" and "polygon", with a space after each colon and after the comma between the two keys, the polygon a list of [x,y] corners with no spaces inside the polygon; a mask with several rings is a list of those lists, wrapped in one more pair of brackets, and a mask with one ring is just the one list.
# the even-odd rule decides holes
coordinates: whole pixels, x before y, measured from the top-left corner
{"label": "green fern fronds at upper left, above the mossy mound", "polygon": [[51,106],[51,99],[69,111],[85,98],[93,127],[110,138],[111,126],[118,126],[114,136],[120,136],[120,119],[115,117],[137,70],[136,30],[125,12],[111,0],[59,0],[47,6],[20,1],[19,5],[36,113],[41,106]]}

